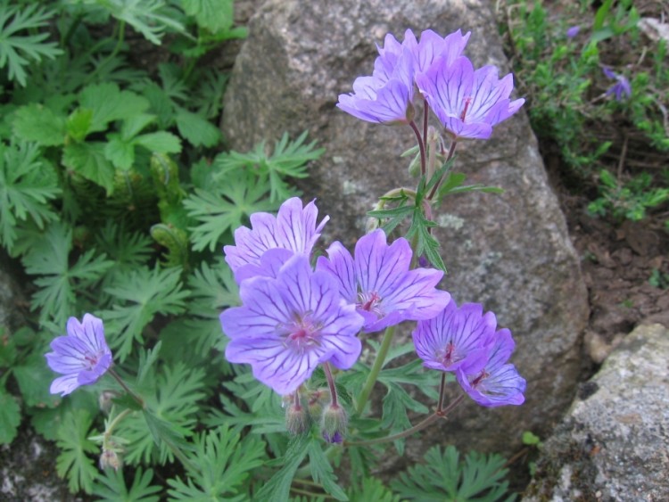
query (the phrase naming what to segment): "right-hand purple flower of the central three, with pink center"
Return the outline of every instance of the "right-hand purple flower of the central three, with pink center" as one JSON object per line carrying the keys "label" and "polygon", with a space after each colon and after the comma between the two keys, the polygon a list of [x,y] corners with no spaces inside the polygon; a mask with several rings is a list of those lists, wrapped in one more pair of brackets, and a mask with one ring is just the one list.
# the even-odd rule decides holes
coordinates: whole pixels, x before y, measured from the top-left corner
{"label": "right-hand purple flower of the central three, with pink center", "polygon": [[343,299],[365,317],[365,331],[373,333],[405,320],[436,316],[450,300],[448,292],[435,286],[443,272],[434,268],[409,270],[411,247],[406,239],[391,245],[377,229],[360,238],[355,259],[342,243],[327,250],[329,259],[318,258],[317,269],[338,279]]}

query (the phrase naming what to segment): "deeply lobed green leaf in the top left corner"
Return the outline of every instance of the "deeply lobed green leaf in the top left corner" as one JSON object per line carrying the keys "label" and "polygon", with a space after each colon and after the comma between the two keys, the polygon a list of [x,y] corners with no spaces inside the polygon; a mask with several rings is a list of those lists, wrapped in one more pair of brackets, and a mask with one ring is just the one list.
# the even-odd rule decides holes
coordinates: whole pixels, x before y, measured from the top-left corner
{"label": "deeply lobed green leaf in the top left corner", "polygon": [[[26,86],[25,67],[42,58],[54,59],[62,54],[47,31],[54,12],[38,4],[0,5],[0,68],[9,65],[9,78]],[[39,32],[40,28],[45,28]]]}

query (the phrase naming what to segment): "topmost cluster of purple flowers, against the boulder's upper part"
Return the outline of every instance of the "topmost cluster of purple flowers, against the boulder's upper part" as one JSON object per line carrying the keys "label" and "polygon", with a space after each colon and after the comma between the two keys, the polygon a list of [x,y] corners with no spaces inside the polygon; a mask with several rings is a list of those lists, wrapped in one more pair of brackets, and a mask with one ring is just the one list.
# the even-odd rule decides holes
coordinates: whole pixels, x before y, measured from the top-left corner
{"label": "topmost cluster of purple flowers, against the boulder's upper part", "polygon": [[468,39],[459,29],[447,37],[428,29],[419,42],[409,29],[402,43],[387,35],[372,75],[357,78],[337,106],[369,122],[408,124],[414,96],[420,95],[454,139],[487,139],[524,99],[509,99],[511,74],[500,79],[494,66],[474,69],[462,55]]}

